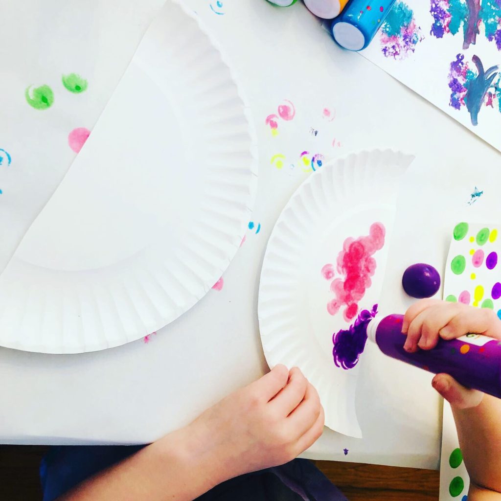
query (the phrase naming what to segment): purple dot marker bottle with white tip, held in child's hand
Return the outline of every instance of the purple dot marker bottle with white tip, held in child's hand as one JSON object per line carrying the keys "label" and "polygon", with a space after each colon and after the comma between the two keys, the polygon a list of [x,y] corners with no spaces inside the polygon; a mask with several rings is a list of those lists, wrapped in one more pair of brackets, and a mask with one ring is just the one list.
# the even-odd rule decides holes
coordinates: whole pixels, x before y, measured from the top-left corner
{"label": "purple dot marker bottle with white tip, held in child's hand", "polygon": [[368,339],[389,357],[434,374],[450,374],[463,386],[501,398],[501,341],[466,334],[450,341],[440,338],[432,350],[408,353],[404,350],[403,318],[389,315],[370,320],[366,324]]}

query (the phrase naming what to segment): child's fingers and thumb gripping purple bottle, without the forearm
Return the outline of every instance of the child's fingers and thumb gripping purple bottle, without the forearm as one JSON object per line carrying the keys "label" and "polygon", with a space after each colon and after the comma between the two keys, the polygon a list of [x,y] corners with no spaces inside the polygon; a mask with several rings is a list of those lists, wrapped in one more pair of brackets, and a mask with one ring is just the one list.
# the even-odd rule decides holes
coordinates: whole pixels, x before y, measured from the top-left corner
{"label": "child's fingers and thumb gripping purple bottle, without the forearm", "polygon": [[[407,334],[404,349],[415,352],[418,349],[431,350],[439,337],[455,339],[475,333],[501,339],[501,322],[488,308],[423,299],[405,313],[402,333]],[[437,374],[432,384],[453,406],[462,409],[478,405],[483,396],[479,391],[459,385],[447,374]]]}

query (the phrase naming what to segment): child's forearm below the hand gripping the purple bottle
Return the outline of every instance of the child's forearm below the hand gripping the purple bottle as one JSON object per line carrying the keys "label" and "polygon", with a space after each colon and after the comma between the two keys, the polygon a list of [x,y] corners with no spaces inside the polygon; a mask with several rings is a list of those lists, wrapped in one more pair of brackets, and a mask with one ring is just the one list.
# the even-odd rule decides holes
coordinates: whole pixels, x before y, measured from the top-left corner
{"label": "child's forearm below the hand gripping the purple bottle", "polygon": [[[501,499],[501,400],[485,395],[476,407],[452,408],[459,445],[474,484],[491,492],[478,492],[471,499]],[[482,497],[485,496],[485,497]],[[470,498],[468,498],[470,499]]]}

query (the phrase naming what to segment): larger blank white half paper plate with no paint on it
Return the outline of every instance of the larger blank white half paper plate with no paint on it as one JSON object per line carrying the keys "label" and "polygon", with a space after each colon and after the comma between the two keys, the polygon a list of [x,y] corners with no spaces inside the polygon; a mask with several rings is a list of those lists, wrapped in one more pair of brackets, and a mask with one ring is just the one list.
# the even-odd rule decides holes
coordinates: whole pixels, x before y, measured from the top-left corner
{"label": "larger blank white half paper plate with no paint on it", "polygon": [[256,186],[230,70],[196,17],[167,2],[0,277],[0,344],[94,351],[172,322],[228,266]]}

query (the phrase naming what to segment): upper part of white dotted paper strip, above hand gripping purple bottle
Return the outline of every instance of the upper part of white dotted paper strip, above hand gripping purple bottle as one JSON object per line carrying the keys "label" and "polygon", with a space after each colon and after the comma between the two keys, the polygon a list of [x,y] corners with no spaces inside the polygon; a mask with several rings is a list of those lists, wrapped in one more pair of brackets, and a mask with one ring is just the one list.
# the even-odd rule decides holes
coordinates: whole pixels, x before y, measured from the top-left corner
{"label": "upper part of white dotted paper strip, above hand gripping purple bottle", "polygon": [[458,222],[451,233],[444,299],[490,308],[501,319],[501,224]]}

